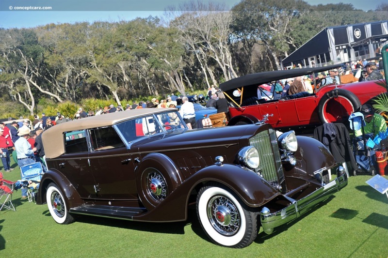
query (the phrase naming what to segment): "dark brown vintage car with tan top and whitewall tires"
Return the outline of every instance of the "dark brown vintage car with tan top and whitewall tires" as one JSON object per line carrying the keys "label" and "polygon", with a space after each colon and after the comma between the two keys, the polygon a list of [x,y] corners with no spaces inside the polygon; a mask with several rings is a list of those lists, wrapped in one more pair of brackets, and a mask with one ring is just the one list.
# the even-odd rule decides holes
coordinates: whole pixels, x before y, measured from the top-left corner
{"label": "dark brown vintage car with tan top and whitewall tires", "polygon": [[[212,242],[244,247],[260,226],[270,234],[347,184],[312,138],[265,123],[188,130],[175,108],[70,121],[42,139],[49,171],[37,203],[59,224],[75,214],[184,221],[193,206]],[[337,178],[323,180],[334,167]]]}

